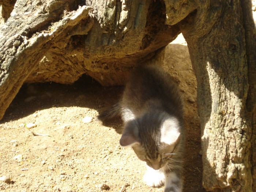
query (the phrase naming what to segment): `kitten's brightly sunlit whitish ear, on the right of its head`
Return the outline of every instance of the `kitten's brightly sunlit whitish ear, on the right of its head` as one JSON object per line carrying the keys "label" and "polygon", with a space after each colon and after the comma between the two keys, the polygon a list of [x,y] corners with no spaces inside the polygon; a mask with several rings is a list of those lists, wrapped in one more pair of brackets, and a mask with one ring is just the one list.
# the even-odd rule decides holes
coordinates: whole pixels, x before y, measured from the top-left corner
{"label": "kitten's brightly sunlit whitish ear, on the right of its head", "polygon": [[175,143],[180,137],[180,125],[176,118],[166,118],[161,127],[161,142],[166,144]]}

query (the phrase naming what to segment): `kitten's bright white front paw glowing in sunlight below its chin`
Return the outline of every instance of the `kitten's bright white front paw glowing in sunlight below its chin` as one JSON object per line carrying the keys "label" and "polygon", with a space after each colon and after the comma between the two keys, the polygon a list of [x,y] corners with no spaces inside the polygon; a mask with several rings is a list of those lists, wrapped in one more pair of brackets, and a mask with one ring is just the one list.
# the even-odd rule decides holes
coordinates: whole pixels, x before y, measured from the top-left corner
{"label": "kitten's bright white front paw glowing in sunlight below its chin", "polygon": [[155,170],[149,166],[147,166],[147,172],[145,173],[143,180],[150,187],[160,187],[165,182],[165,175],[162,169]]}

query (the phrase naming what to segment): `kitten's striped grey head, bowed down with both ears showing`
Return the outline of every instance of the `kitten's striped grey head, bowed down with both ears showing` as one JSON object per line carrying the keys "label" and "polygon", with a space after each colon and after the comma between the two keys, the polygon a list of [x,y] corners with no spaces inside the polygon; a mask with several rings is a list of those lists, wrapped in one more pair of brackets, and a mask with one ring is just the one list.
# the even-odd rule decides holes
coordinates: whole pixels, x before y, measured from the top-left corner
{"label": "kitten's striped grey head, bowed down with both ears showing", "polygon": [[180,138],[181,125],[176,117],[149,112],[125,124],[120,144],[132,147],[139,159],[157,170],[169,162]]}

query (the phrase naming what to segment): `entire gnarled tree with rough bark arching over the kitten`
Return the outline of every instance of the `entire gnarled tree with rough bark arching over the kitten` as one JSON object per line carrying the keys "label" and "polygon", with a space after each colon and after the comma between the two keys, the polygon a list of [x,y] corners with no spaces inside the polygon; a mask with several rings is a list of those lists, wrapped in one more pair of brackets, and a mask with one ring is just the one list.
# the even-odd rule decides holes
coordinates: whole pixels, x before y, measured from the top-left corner
{"label": "entire gnarled tree with rough bark arching over the kitten", "polygon": [[0,0],[0,119],[24,82],[82,74],[123,84],[180,31],[198,83],[203,185],[256,191],[256,40],[250,0]]}

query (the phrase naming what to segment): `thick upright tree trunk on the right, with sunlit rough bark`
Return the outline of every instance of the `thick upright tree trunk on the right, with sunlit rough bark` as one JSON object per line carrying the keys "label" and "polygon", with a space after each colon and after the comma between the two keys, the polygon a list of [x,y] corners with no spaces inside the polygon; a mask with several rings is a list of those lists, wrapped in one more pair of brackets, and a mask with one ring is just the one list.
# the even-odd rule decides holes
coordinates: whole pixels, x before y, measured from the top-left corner
{"label": "thick upright tree trunk on the right, with sunlit rough bark", "polygon": [[197,78],[208,191],[255,191],[255,26],[252,14],[243,16],[250,3],[208,1],[181,25]]}

